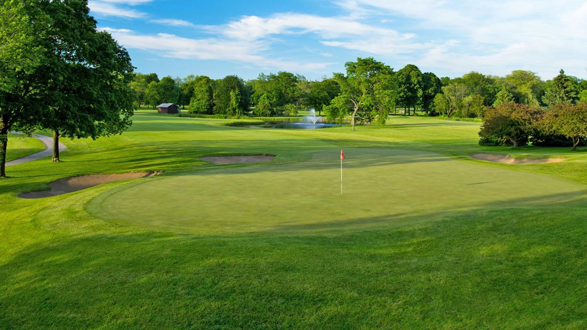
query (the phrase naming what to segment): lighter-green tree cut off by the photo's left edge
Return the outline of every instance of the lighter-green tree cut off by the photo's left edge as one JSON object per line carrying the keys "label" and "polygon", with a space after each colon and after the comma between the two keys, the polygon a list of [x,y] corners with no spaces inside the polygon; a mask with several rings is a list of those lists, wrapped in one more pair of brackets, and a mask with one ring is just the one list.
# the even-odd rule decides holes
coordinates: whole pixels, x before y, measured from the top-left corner
{"label": "lighter-green tree cut off by the photo's left edge", "polygon": [[6,177],[6,146],[13,127],[30,131],[46,110],[43,85],[48,77],[37,69],[50,49],[49,16],[34,0],[5,0],[0,6],[0,177]]}

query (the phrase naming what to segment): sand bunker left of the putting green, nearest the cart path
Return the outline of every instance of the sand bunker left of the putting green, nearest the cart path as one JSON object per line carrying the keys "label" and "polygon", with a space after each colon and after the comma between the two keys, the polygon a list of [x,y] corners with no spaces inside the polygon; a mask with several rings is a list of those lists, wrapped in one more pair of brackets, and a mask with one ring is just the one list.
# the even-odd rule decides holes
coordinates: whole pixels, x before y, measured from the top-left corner
{"label": "sand bunker left of the putting green, nearest the cart path", "polygon": [[55,180],[49,183],[51,190],[46,191],[31,191],[30,193],[20,194],[21,198],[45,198],[51,196],[58,196],[73,191],[83,190],[99,184],[109,183],[113,181],[139,179],[141,177],[151,177],[160,174],[160,172],[149,173],[124,173],[124,174],[92,174],[89,176],[66,177]]}

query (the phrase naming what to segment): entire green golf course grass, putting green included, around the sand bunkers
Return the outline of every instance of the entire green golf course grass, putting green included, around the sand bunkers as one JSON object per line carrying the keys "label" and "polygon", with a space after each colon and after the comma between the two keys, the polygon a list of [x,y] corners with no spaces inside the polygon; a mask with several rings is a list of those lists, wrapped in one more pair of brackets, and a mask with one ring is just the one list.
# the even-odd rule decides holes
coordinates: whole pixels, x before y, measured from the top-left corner
{"label": "entire green golf course grass, putting green included, around the sand bunkers", "polygon": [[[141,110],[122,136],[63,139],[62,163],[10,167],[0,328],[587,326],[584,151],[479,146],[478,123],[429,117],[355,132],[227,122]],[[568,160],[493,164],[475,152]],[[199,160],[259,153],[277,157]],[[165,173],[16,197],[132,170]]]}

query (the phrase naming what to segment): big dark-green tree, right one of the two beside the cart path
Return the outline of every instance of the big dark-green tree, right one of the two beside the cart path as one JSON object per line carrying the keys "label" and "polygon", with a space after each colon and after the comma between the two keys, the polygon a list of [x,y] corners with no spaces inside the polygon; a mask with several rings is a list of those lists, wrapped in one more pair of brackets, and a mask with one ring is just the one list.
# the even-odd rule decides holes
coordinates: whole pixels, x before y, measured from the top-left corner
{"label": "big dark-green tree, right one of the two beside the cart path", "polygon": [[97,31],[85,1],[52,1],[43,8],[53,19],[44,40],[53,52],[38,69],[50,76],[45,88],[51,102],[39,126],[53,131],[55,162],[60,136],[96,139],[130,126],[134,76],[129,54],[110,33]]}

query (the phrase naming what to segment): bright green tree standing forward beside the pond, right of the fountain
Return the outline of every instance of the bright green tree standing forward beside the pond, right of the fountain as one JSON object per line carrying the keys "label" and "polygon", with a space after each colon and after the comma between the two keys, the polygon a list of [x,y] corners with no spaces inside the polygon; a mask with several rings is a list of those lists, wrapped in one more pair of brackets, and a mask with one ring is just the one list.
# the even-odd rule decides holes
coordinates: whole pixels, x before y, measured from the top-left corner
{"label": "bright green tree standing forward beside the pond, right of the fountain", "polygon": [[[335,73],[334,79],[340,85],[340,96],[352,104],[352,127],[355,130],[355,117],[359,110],[372,111],[375,107],[375,85],[385,76],[393,75],[393,69],[373,58],[357,58],[356,62],[346,62],[346,76]],[[337,98],[335,97],[334,100]],[[346,102],[337,100],[337,109],[343,109]],[[340,111],[339,115],[343,112]]]}

